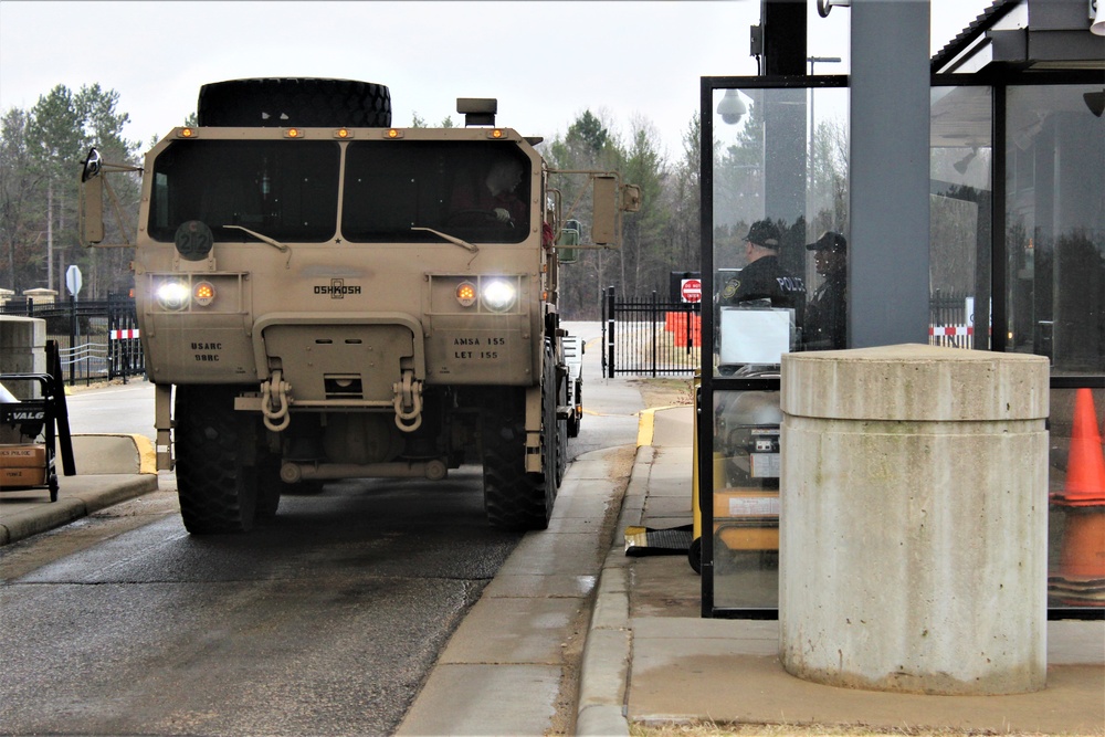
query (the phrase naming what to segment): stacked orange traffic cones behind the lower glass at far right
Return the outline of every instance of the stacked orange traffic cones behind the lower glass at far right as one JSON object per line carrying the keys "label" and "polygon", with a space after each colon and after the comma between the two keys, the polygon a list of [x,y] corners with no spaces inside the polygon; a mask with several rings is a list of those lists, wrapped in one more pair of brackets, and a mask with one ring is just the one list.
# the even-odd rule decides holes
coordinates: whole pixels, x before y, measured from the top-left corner
{"label": "stacked orange traffic cones behind the lower glass at far right", "polygon": [[1075,396],[1066,483],[1054,502],[1066,507],[1066,525],[1049,589],[1065,603],[1105,606],[1105,452],[1090,389]]}

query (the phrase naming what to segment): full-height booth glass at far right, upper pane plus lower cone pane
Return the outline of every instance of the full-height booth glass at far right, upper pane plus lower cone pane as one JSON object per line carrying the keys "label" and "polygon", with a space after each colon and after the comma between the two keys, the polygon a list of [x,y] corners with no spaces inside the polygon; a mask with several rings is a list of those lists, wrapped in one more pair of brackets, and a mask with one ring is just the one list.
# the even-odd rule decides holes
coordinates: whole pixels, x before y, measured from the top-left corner
{"label": "full-height booth glass at far right, upper pane plus lower cone pane", "polygon": [[[1006,350],[1051,361],[1048,606],[1105,606],[1105,93],[1006,91]],[[1096,112],[1095,112],[1096,110]]]}

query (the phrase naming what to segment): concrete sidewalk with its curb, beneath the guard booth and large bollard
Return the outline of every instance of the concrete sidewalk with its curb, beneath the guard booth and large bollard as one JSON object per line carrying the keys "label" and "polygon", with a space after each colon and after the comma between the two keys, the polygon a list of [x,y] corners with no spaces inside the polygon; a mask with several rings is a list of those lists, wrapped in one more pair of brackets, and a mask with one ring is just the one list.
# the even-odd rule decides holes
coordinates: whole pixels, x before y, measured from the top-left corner
{"label": "concrete sidewalk with its curb, beneath the guard booth and large bollard", "polygon": [[[691,523],[692,409],[655,412],[618,530]],[[1048,687],[1012,696],[925,696],[823,686],[778,659],[776,621],[703,619],[685,556],[607,556],[583,656],[577,734],[631,723],[862,725],[871,729],[1105,734],[1105,622],[1048,623]]]}

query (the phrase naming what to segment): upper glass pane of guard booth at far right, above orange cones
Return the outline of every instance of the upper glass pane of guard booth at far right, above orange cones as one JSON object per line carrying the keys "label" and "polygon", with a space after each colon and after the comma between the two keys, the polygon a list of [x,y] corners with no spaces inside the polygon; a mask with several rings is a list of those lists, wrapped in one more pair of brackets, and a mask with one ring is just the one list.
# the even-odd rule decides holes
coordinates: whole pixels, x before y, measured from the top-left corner
{"label": "upper glass pane of guard booth at far right, above orange cones", "polygon": [[1090,108],[1095,94],[1099,84],[1007,92],[1007,350],[1049,357],[1053,376],[1105,373],[1105,116]]}

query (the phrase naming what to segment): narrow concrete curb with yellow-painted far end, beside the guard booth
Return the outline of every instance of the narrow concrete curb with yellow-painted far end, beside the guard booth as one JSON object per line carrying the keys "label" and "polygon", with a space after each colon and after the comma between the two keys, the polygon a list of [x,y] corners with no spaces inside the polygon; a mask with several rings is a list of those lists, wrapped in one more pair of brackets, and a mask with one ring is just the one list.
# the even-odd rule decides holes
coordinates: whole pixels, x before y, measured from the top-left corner
{"label": "narrow concrete curb with yellow-painted far end, beside the guard booth", "polygon": [[[648,421],[645,420],[648,418]],[[642,433],[648,422],[652,433],[653,410],[641,412]],[[641,434],[638,435],[639,443]],[[583,737],[628,737],[625,688],[633,651],[633,631],[629,625],[629,561],[617,530],[640,525],[644,518],[644,498],[655,449],[638,445],[629,487],[622,499],[614,541],[602,562],[591,612],[591,622],[583,643],[579,673],[579,703],[576,712],[576,734]]]}

